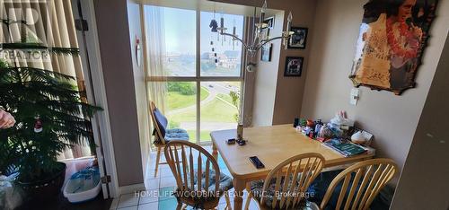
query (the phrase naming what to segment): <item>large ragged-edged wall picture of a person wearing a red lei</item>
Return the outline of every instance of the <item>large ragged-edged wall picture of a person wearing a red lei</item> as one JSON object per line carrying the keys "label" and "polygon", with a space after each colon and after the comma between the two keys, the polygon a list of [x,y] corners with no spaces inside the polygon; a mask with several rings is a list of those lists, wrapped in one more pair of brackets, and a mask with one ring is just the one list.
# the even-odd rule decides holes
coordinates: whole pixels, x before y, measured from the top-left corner
{"label": "large ragged-edged wall picture of a person wearing a red lei", "polygon": [[353,85],[395,95],[415,88],[437,4],[438,0],[367,1],[349,74]]}

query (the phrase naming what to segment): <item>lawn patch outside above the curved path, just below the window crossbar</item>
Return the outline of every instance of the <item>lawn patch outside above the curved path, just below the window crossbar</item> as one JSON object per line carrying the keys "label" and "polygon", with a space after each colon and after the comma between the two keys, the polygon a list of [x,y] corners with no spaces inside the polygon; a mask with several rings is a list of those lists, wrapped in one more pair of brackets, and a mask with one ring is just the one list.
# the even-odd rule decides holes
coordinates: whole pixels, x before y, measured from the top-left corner
{"label": "lawn patch outside above the curved path, just below the window crossbar", "polygon": [[[206,88],[201,87],[201,101],[207,98],[209,92]],[[169,110],[181,109],[195,105],[197,95],[183,95],[180,92],[168,92],[167,105]]]}

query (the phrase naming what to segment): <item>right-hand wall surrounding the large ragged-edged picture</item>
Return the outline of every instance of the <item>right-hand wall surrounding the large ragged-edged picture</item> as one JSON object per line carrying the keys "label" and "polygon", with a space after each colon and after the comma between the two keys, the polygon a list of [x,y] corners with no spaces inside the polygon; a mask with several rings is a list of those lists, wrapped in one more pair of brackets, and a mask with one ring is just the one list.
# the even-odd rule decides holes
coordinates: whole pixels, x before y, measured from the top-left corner
{"label": "right-hand wall surrounding the large ragged-edged picture", "polygon": [[318,1],[301,116],[329,120],[340,109],[347,110],[349,118],[374,134],[376,153],[402,166],[449,29],[449,0],[439,1],[437,6],[437,17],[416,77],[417,87],[401,96],[361,87],[358,105],[352,106],[349,92],[353,86],[348,75],[366,2]]}

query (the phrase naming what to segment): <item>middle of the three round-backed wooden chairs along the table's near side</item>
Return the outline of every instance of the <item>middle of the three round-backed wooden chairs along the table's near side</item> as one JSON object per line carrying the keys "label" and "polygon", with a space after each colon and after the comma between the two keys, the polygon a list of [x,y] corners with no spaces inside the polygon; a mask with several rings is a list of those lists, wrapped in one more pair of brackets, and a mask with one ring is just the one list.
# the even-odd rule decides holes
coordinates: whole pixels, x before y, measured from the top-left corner
{"label": "middle of the three round-backed wooden chairs along the table's near side", "polygon": [[281,162],[265,180],[251,181],[245,209],[255,198],[260,209],[295,209],[307,196],[307,188],[322,170],[324,157],[304,153]]}

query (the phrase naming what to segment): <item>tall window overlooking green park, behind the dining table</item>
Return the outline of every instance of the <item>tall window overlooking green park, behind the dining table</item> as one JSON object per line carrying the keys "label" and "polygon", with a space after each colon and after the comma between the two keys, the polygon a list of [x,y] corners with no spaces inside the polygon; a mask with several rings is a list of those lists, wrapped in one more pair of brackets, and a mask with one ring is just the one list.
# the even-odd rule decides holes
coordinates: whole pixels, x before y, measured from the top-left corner
{"label": "tall window overlooking green park, behind the dining table", "polygon": [[[197,144],[210,143],[212,130],[235,128],[242,44],[210,31],[214,13],[153,5],[144,13],[149,99],[163,101],[169,128],[186,129]],[[232,33],[235,25],[242,38],[243,16],[224,17],[225,27]]]}

